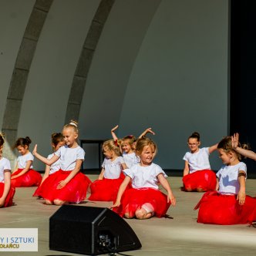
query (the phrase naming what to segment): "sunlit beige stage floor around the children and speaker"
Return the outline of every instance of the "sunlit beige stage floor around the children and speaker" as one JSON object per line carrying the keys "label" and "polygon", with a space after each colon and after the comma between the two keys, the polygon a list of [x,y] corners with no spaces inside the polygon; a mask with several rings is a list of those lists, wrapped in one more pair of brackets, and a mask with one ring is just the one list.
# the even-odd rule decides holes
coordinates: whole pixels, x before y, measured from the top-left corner
{"label": "sunlit beige stage floor around the children and speaker", "polygon": [[[88,175],[91,180],[96,175]],[[170,207],[170,218],[153,217],[150,220],[126,220],[139,237],[142,248],[126,251],[129,255],[255,255],[256,228],[245,225],[217,226],[197,224],[194,206],[202,194],[180,191],[181,177],[168,177],[177,206]],[[32,197],[35,187],[16,189],[15,206],[0,209],[1,228],[36,227],[39,230],[38,252],[3,252],[1,255],[79,255],[49,250],[49,217],[59,209],[47,206],[43,200]],[[256,180],[247,180],[247,194],[256,195]],[[109,207],[111,202],[86,200],[81,206]],[[117,254],[116,254],[117,255]]]}

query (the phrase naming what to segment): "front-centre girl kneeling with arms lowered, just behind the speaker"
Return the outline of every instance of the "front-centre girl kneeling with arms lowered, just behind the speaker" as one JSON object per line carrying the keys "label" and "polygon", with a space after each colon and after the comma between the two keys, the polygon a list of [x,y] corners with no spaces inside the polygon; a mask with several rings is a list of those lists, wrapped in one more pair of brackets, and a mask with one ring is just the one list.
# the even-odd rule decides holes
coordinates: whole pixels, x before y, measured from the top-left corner
{"label": "front-centre girl kneeling with arms lowered, just behind the speaker", "polygon": [[[141,138],[136,143],[136,154],[140,163],[126,169],[126,177],[118,191],[113,211],[121,217],[148,219],[152,216],[163,217],[170,204],[176,204],[166,174],[157,164],[152,163],[157,153],[157,145],[149,138]],[[132,180],[132,188],[126,190]],[[167,195],[158,190],[160,182]]]}

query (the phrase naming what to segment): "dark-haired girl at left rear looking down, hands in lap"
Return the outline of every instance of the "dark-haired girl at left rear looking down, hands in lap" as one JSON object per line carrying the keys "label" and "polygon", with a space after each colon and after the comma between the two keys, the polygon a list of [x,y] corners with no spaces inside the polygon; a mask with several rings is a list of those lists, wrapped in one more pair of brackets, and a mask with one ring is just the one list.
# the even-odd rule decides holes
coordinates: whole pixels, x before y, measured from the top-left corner
{"label": "dark-haired girl at left rear looking down, hands in lap", "polygon": [[21,154],[18,157],[18,168],[12,173],[11,183],[13,187],[33,187],[39,186],[42,176],[37,171],[33,170],[34,157],[29,152],[31,140],[28,136],[19,138],[15,143],[15,148]]}

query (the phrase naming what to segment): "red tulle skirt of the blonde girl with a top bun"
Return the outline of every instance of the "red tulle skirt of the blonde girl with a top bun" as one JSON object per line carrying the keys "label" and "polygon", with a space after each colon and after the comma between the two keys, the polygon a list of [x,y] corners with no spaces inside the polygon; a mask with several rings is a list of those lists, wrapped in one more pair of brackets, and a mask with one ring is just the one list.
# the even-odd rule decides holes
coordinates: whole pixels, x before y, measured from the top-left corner
{"label": "red tulle skirt of the blonde girl with a top bun", "polygon": [[86,192],[92,183],[86,175],[79,172],[66,184],[65,187],[57,189],[59,182],[69,176],[70,171],[58,170],[47,177],[44,182],[35,190],[33,196],[42,197],[45,200],[63,200],[70,203],[76,203],[86,199]]}

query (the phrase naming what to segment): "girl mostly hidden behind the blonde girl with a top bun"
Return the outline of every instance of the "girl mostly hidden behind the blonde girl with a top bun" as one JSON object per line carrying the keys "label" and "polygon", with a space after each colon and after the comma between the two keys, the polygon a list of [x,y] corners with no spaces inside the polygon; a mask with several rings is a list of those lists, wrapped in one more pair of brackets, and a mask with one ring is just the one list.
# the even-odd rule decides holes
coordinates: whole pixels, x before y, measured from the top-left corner
{"label": "girl mostly hidden behind the blonde girl with a top bun", "polygon": [[[51,143],[51,145],[52,145],[52,151],[53,152],[56,152],[57,150],[59,150],[60,147],[65,145],[65,141],[64,141],[64,138],[62,136],[62,133],[52,133],[52,143]],[[49,154],[47,159],[51,159],[53,157],[53,155],[54,155],[54,153]],[[60,169],[60,160],[56,160],[56,162],[52,163],[51,166],[46,165],[45,174],[42,177],[41,184],[45,181],[45,179],[47,177],[49,177],[50,174],[55,173],[59,169]],[[39,187],[37,188],[37,190],[35,190],[35,193],[33,194],[33,197],[38,197],[39,196],[38,190],[39,190]]]}

